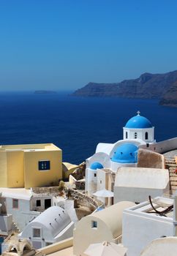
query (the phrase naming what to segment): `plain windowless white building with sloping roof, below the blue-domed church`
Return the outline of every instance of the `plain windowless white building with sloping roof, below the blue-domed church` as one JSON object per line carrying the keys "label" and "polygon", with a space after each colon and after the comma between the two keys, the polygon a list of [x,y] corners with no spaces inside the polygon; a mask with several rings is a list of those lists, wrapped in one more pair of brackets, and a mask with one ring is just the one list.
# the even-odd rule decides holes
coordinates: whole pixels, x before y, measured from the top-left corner
{"label": "plain windowless white building with sloping roof, below the blue-domed church", "polygon": [[169,173],[166,169],[120,167],[114,184],[114,203],[129,200],[142,203],[151,197],[170,194]]}

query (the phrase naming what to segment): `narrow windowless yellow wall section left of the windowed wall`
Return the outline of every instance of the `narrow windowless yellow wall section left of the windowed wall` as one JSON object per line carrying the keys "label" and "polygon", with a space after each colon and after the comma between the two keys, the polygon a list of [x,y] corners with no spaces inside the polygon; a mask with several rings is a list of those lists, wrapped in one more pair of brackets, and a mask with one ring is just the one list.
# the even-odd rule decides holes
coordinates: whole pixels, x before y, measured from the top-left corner
{"label": "narrow windowless yellow wall section left of the windowed wall", "polygon": [[23,151],[7,151],[7,187],[24,187]]}

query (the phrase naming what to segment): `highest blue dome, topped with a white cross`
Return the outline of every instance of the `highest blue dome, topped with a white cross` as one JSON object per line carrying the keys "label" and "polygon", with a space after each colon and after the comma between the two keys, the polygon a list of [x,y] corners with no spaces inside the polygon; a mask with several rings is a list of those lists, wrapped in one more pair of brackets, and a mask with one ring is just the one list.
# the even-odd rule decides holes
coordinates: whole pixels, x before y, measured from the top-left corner
{"label": "highest blue dome, topped with a white cross", "polygon": [[151,121],[148,120],[148,118],[144,116],[140,116],[140,113],[138,112],[137,116],[133,116],[132,118],[127,121],[127,124],[125,125],[126,128],[151,128],[152,124]]}

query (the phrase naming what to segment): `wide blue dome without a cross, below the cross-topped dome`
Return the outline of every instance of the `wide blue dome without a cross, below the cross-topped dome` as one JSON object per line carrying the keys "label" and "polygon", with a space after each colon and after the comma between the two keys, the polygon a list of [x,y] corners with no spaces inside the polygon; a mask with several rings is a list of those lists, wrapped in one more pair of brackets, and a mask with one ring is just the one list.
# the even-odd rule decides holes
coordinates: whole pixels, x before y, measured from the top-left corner
{"label": "wide blue dome without a cross, below the cross-topped dome", "polygon": [[138,146],[132,143],[124,143],[116,148],[113,154],[113,162],[135,163],[137,162]]}

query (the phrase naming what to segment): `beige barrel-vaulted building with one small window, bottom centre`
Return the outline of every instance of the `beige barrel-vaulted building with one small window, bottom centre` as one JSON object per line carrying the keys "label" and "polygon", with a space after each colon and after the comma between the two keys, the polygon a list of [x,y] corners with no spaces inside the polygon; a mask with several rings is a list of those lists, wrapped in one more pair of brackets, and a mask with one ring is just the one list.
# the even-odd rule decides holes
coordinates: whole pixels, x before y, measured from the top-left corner
{"label": "beige barrel-vaulted building with one small window, bottom centre", "polygon": [[73,233],[73,253],[76,256],[85,255],[83,252],[90,244],[108,241],[121,242],[122,214],[124,208],[135,206],[132,202],[120,202],[113,206],[97,211],[81,219]]}

